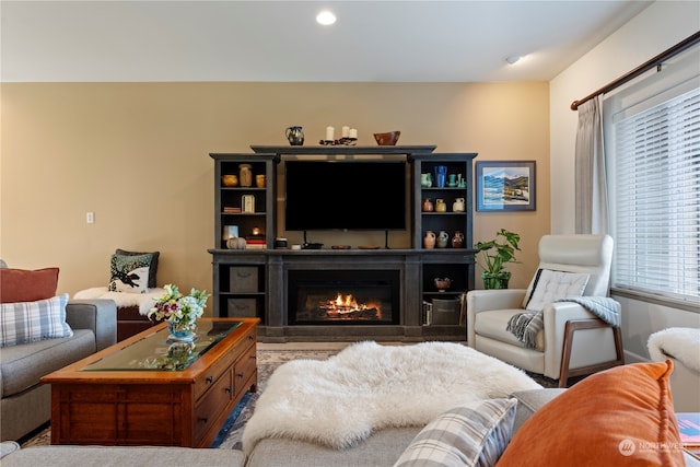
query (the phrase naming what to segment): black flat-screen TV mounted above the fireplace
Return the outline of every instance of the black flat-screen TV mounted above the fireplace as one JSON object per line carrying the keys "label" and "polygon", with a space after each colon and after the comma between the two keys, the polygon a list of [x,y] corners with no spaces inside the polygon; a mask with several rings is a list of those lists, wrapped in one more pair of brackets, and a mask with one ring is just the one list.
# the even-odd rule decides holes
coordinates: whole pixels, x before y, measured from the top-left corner
{"label": "black flat-screen TV mounted above the fireplace", "polygon": [[287,161],[288,231],[405,230],[406,162]]}

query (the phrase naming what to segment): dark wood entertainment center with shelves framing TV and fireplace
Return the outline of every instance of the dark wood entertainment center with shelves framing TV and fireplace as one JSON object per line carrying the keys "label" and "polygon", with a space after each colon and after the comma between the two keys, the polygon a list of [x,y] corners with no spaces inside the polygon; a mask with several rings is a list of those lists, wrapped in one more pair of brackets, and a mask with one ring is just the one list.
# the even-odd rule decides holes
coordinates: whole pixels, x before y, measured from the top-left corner
{"label": "dark wood entertainment center with shelves framing TV and fireplace", "polygon": [[[258,317],[258,340],[261,342],[323,341],[323,340],[465,340],[464,324],[454,322],[427,323],[424,304],[434,300],[450,303],[462,293],[474,289],[475,264],[469,257],[474,250],[472,238],[472,161],[476,153],[434,153],[434,145],[396,147],[277,147],[252,145],[253,153],[211,153],[214,160],[214,248],[209,249],[213,265],[214,316]],[[325,157],[328,161],[404,160],[407,162],[407,230],[410,247],[381,249],[291,249],[276,248],[276,236],[284,236],[278,230],[278,218],[283,200],[278,201],[278,165],[285,160]],[[249,164],[252,186],[224,186],[224,175],[238,175],[241,164]],[[434,174],[438,165],[447,166],[450,174],[463,174],[465,186],[421,186],[421,173]],[[265,186],[255,184],[256,175],[265,175]],[[434,175],[433,175],[434,177]],[[313,186],[310,186],[313,189]],[[441,198],[446,211],[425,212],[422,200]],[[464,211],[453,211],[453,202],[464,198]],[[247,201],[247,206],[246,206]],[[238,209],[242,208],[242,209]],[[312,208],[313,209],[313,208]],[[230,249],[224,227],[236,225],[240,236],[247,236],[254,227],[261,234],[257,248]],[[464,234],[463,247],[425,248],[427,231],[435,235],[445,231],[452,238],[455,232]],[[323,275],[398,277],[398,293],[393,307],[395,316],[386,323],[329,322],[295,323],[290,318],[290,276]],[[323,276],[322,275],[322,276]],[[318,275],[316,275],[318,276]],[[452,287],[439,291],[433,279],[448,277]],[[393,285],[396,287],[396,285]],[[439,303],[439,302],[435,302]],[[445,315],[446,316],[446,315]]]}

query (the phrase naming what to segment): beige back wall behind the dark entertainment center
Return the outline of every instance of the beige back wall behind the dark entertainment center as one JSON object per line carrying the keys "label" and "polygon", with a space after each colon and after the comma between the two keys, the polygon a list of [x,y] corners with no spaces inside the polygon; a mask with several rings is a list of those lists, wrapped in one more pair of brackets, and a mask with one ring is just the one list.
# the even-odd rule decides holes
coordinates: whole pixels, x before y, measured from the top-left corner
{"label": "beige back wall behind the dark entertainment center", "polygon": [[[375,144],[375,131],[400,130],[399,144],[535,160],[536,211],[475,219],[476,240],[501,227],[522,234],[524,264],[511,268],[511,287],[526,285],[537,241],[549,233],[544,82],[2,83],[1,91],[0,255],[12,267],[59,266],[59,291],[105,285],[117,247],[159,249],[159,284],[211,290],[208,153],[287,144],[290,125],[304,127],[307,145],[327,125],[349,125],[360,144]],[[377,235],[372,241],[383,245]]]}

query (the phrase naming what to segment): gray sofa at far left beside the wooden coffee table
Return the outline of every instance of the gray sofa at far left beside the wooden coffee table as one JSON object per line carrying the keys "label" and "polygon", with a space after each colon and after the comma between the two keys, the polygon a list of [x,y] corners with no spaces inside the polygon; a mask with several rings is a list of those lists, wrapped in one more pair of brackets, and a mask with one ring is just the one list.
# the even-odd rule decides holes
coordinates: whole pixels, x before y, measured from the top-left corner
{"label": "gray sofa at far left beside the wooden coffee table", "polygon": [[0,440],[19,440],[50,419],[50,386],[39,378],[117,340],[112,300],[70,301],[66,322],[73,336],[0,350]]}

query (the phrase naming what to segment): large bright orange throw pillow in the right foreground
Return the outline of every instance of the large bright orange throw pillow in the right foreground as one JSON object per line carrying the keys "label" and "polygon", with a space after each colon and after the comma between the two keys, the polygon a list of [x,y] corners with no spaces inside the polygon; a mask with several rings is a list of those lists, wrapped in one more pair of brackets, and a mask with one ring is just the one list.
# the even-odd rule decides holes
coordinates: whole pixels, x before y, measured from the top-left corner
{"label": "large bright orange throw pillow in the right foreground", "polygon": [[533,415],[498,462],[512,466],[685,466],[673,362],[591,375]]}

